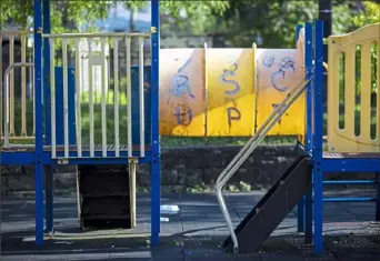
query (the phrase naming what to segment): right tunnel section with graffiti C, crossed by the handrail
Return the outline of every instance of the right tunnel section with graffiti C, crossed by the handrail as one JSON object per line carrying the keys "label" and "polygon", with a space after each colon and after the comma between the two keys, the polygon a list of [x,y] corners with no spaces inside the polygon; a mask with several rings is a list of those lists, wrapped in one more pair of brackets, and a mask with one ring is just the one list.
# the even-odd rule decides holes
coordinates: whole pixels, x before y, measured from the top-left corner
{"label": "right tunnel section with graffiti C, crossed by the handrail", "polygon": [[[304,78],[302,49],[257,49],[257,124],[262,126],[292,89]],[[304,133],[304,93],[271,129],[270,135]]]}

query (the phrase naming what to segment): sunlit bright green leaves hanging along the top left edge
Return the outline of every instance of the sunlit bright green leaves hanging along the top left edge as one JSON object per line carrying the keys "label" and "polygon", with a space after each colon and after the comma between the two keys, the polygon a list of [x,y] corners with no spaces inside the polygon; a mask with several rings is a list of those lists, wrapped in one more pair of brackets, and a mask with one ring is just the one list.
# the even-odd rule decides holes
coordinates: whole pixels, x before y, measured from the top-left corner
{"label": "sunlit bright green leaves hanging along the top left edge", "polygon": [[[0,24],[12,22],[21,28],[32,27],[32,9],[31,0],[1,0],[0,1]],[[89,30],[96,31],[94,21],[104,19],[108,16],[108,10],[120,3],[120,0],[51,0],[51,23],[52,31],[59,32],[76,32],[82,26],[90,26]],[[147,7],[150,1],[128,0],[122,1],[123,6],[137,11],[140,8]],[[161,1],[161,12],[170,13],[173,21],[181,17],[180,13],[186,12],[197,17],[199,10],[212,10],[214,13],[221,13],[228,1]],[[201,8],[200,8],[201,7]],[[22,10],[22,11],[20,11]],[[200,23],[198,23],[199,26]],[[70,28],[67,28],[70,26]]]}

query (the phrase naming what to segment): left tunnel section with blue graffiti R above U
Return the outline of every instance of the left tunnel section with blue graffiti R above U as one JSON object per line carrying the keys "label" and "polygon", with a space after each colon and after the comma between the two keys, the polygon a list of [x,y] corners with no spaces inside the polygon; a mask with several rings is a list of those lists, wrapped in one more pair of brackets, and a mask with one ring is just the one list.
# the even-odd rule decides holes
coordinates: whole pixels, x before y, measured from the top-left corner
{"label": "left tunnel section with blue graffiti R above U", "polygon": [[160,50],[160,133],[204,134],[204,50]]}

